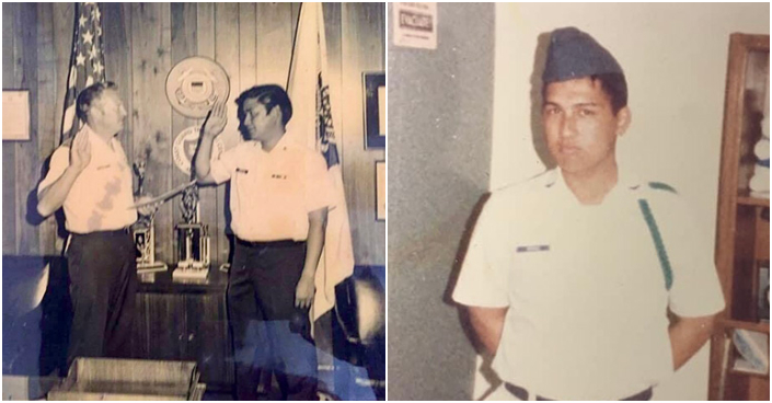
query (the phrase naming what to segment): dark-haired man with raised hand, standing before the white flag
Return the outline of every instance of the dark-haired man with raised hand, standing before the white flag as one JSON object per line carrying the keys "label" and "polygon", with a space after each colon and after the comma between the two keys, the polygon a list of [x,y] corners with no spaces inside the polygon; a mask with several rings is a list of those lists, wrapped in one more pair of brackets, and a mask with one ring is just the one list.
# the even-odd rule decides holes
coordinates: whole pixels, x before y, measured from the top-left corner
{"label": "dark-haired man with raised hand, standing before the white flag", "polygon": [[226,126],[226,106],[217,104],[194,163],[199,184],[230,181],[231,186],[237,241],[228,309],[237,395],[265,398],[258,380],[267,371],[280,387],[280,395],[268,398],[316,400],[316,354],[303,324],[333,202],[327,165],[319,152],[287,140],[292,105],[284,89],[254,87],[235,103],[245,141],[210,162],[215,137]]}

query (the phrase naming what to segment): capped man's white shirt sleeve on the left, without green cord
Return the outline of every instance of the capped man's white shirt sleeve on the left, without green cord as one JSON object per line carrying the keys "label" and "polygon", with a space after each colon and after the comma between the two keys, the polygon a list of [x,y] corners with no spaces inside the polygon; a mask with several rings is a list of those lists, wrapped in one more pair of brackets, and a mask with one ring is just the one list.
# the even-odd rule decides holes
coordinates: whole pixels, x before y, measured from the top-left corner
{"label": "capped man's white shirt sleeve on the left, without green cord", "polygon": [[[488,202],[489,203],[489,202]],[[506,291],[506,270],[493,264],[491,241],[493,223],[492,208],[488,204],[480,215],[472,232],[469,249],[461,265],[453,300],[469,307],[505,308],[509,306]]]}

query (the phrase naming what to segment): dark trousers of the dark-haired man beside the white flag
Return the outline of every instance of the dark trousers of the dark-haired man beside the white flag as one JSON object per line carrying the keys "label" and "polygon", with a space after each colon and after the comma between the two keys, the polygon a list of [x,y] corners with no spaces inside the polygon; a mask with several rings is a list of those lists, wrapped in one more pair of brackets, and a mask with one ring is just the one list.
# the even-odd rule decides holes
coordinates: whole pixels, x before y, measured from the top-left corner
{"label": "dark trousers of the dark-haired man beside the white flag", "polygon": [[[316,349],[308,310],[295,307],[304,261],[306,242],[235,242],[228,311],[239,400],[316,400]],[[270,379],[270,373],[278,396],[258,393],[261,378]]]}

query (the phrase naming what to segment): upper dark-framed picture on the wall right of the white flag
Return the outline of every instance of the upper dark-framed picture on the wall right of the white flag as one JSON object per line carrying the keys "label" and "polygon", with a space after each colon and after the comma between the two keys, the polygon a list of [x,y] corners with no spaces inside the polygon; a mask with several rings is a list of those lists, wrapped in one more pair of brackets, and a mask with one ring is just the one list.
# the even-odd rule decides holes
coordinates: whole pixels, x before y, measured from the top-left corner
{"label": "upper dark-framed picture on the wall right of the white flag", "polygon": [[365,148],[385,148],[385,73],[362,74],[365,88]]}

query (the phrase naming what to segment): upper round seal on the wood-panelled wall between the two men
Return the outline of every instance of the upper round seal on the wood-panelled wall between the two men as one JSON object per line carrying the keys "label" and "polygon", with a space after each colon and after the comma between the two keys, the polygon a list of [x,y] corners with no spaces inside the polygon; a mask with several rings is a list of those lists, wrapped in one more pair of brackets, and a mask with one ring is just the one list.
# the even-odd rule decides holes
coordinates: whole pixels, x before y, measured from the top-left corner
{"label": "upper round seal on the wood-panelled wall between the two men", "polygon": [[188,117],[206,117],[215,101],[224,102],[229,94],[230,82],[226,70],[206,57],[194,56],[181,60],[166,77],[169,103]]}

